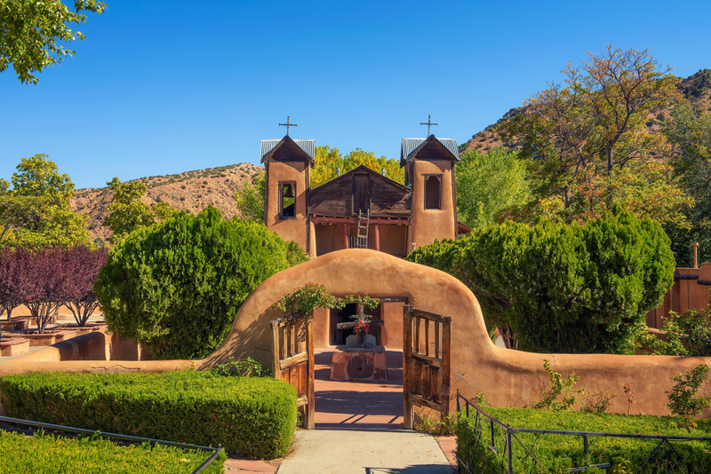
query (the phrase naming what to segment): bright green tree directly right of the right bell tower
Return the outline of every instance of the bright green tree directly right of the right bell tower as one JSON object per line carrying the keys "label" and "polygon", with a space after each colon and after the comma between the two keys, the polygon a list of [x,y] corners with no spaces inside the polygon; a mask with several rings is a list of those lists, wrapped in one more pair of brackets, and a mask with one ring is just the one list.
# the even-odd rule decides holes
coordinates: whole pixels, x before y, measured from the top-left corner
{"label": "bright green tree directly right of the right bell tower", "polygon": [[531,191],[525,163],[507,148],[483,154],[467,150],[454,169],[457,180],[457,218],[472,227],[494,223],[499,210],[528,201]]}

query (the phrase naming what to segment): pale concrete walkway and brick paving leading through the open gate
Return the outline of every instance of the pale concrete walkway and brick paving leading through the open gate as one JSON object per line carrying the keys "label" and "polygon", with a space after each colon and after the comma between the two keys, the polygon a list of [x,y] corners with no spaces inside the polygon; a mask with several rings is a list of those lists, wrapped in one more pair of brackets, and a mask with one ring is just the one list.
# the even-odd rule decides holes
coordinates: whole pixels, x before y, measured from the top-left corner
{"label": "pale concrete walkway and brick paving leading through the open gate", "polygon": [[[299,430],[283,460],[229,460],[225,471],[277,474],[456,472],[454,438],[403,430],[403,354],[387,352],[385,383],[329,380],[331,351],[316,353],[316,430]],[[445,455],[446,454],[446,455]],[[449,460],[448,460],[449,459]]]}

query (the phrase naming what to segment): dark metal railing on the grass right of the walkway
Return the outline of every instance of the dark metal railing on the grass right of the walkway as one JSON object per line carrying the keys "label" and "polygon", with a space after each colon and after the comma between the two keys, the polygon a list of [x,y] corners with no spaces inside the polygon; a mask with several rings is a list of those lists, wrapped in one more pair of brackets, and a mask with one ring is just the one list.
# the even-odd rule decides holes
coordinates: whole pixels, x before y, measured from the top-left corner
{"label": "dark metal railing on the grass right of the walkway", "polygon": [[[464,401],[464,410],[465,414],[467,415],[467,418],[469,417],[469,408],[474,408],[476,412],[476,419],[475,419],[475,446],[474,446],[474,454],[476,453],[479,443],[479,440],[482,438],[483,434],[483,428],[482,428],[482,418],[485,418],[489,421],[490,423],[490,431],[491,431],[491,439],[488,440],[487,445],[484,446],[485,448],[489,449],[493,454],[500,454],[499,449],[496,448],[495,446],[495,427],[498,427],[500,432],[505,435],[504,439],[504,448],[503,448],[503,454],[506,455],[507,457],[507,472],[508,474],[513,474],[514,472],[514,455],[519,458],[525,458],[527,456],[531,456],[531,459],[535,461],[539,467],[543,470],[546,468],[543,467],[543,465],[539,462],[538,458],[531,452],[531,449],[536,445],[538,442],[538,439],[540,435],[543,434],[551,434],[551,435],[560,435],[560,436],[579,436],[582,438],[582,447],[585,452],[585,454],[589,454],[589,446],[588,446],[588,438],[590,437],[602,437],[602,438],[636,438],[636,439],[659,439],[659,443],[657,446],[654,447],[654,449],[651,451],[651,454],[647,457],[646,461],[643,462],[643,464],[639,467],[638,470],[635,472],[638,473],[640,472],[643,467],[647,464],[647,462],[651,462],[652,458],[654,457],[654,454],[657,454],[659,451],[659,448],[662,446],[667,446],[665,447],[664,453],[661,455],[662,459],[664,460],[669,460],[670,456],[672,453],[676,454],[677,460],[674,465],[671,466],[670,469],[674,469],[676,466],[678,466],[681,462],[683,462],[683,456],[682,454],[679,454],[679,452],[675,449],[675,447],[670,443],[670,441],[711,441],[711,437],[695,437],[695,436],[667,436],[667,435],[646,435],[646,434],[628,434],[628,433],[605,433],[605,432],[595,432],[595,431],[556,431],[556,430],[532,430],[532,429],[527,429],[527,428],[512,428],[510,424],[504,424],[501,423],[499,420],[497,420],[495,417],[492,415],[486,413],[482,407],[479,407],[474,401],[467,399],[463,395],[459,393],[459,390],[457,391],[457,413],[460,414],[462,407],[461,407],[461,401]],[[529,447],[525,446],[523,442],[521,441],[520,438],[516,436],[517,433],[531,433],[535,434],[536,438],[534,440],[533,446],[531,446],[531,449]],[[523,450],[525,451],[525,456],[520,456],[518,454],[514,453],[514,450],[512,449],[513,445],[512,442],[513,440],[516,440],[516,442],[523,447]],[[458,441],[459,442],[459,441]],[[462,466],[467,472],[470,474],[474,474],[472,470],[469,470],[468,462],[466,460],[462,460],[459,458],[459,454],[457,455],[457,459],[459,461],[459,465]],[[611,462],[602,462],[599,464],[587,464],[585,466],[579,466],[579,467],[572,467],[568,470],[568,472],[577,472],[580,470],[588,470],[588,469],[595,469],[595,468],[609,468],[611,466]]]}

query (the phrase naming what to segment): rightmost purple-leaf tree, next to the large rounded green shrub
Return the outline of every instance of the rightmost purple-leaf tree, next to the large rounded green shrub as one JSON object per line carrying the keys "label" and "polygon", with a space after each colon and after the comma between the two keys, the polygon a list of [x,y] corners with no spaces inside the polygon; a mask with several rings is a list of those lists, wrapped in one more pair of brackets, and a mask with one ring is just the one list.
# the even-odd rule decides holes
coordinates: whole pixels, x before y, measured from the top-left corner
{"label": "rightmost purple-leaf tree, next to the large rounded green shrub", "polygon": [[68,250],[68,275],[64,280],[62,294],[64,305],[72,312],[79,327],[84,327],[89,316],[99,307],[94,282],[107,258],[107,249],[75,247]]}

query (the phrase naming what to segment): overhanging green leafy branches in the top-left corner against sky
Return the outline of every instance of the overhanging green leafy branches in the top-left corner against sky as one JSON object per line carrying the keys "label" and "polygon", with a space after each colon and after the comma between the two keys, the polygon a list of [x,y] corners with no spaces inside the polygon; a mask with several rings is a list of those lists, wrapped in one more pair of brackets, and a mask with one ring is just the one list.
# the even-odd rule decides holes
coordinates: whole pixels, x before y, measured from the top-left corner
{"label": "overhanging green leafy branches in the top-left corner against sky", "polygon": [[75,0],[74,12],[59,0],[3,0],[0,2],[0,72],[10,64],[21,83],[36,84],[33,72],[59,64],[76,51],[65,44],[85,36],[72,24],[86,21],[82,12],[100,14],[106,3]]}

